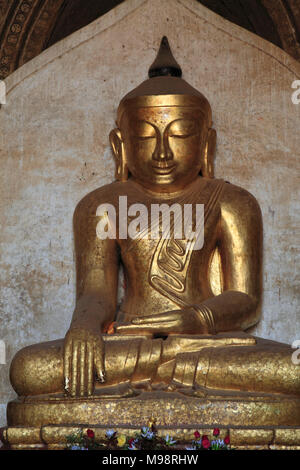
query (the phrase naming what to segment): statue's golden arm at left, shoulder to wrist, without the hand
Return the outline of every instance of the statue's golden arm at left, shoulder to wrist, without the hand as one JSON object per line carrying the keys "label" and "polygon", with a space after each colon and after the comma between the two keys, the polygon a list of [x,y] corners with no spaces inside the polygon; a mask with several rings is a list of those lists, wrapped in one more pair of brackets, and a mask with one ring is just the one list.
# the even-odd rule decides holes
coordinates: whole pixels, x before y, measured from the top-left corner
{"label": "statue's golden arm at left, shoulder to wrist, without the hand", "polygon": [[116,240],[98,238],[98,201],[84,198],[76,207],[76,307],[72,326],[103,330],[114,320],[117,307],[119,256]]}

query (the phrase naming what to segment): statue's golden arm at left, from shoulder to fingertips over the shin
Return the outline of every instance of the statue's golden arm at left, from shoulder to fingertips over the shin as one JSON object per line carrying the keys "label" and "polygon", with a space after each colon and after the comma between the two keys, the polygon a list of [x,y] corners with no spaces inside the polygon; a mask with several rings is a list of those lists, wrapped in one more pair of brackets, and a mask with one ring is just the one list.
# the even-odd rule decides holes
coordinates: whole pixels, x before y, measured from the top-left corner
{"label": "statue's golden arm at left, from shoulder to fingertips over the shin", "polygon": [[65,389],[91,395],[94,381],[105,380],[101,332],[115,316],[118,285],[116,240],[97,237],[97,199],[84,198],[74,213],[76,307],[64,342]]}

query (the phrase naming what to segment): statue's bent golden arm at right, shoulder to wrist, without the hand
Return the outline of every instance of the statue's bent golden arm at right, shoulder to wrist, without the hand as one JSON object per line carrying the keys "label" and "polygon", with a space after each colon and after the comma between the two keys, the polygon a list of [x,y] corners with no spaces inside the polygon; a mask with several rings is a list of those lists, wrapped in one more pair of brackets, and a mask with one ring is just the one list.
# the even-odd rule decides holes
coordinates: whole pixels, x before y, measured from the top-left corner
{"label": "statue's bent golden arm at right, shoulder to wrist, without the hand", "polygon": [[245,330],[259,321],[262,217],[256,199],[229,184],[221,201],[219,249],[223,293],[202,305],[212,315],[215,332]]}

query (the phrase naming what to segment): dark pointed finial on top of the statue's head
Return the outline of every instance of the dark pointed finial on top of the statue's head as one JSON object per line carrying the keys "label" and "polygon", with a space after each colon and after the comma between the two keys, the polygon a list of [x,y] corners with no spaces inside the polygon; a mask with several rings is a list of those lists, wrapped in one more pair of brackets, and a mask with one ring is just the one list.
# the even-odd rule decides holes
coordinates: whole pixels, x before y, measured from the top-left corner
{"label": "dark pointed finial on top of the statue's head", "polygon": [[148,71],[148,75],[149,78],[161,76],[181,77],[182,75],[182,70],[173,57],[168,38],[166,36],[161,40],[159,51],[155,61]]}

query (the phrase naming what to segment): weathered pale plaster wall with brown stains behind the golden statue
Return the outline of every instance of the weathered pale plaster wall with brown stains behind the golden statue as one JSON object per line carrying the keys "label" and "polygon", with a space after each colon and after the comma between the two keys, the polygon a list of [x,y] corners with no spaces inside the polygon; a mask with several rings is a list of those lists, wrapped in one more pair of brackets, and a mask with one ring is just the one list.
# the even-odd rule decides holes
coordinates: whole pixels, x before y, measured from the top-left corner
{"label": "weathered pale plaster wall with brown stains behind the golden statue", "polygon": [[0,425],[14,397],[9,363],[63,337],[74,307],[72,214],[113,179],[108,134],[120,98],[146,78],[163,35],[184,77],[209,99],[216,175],[258,199],[264,301],[257,335],[300,339],[296,228],[300,65],[191,0],[129,0],[46,50],[6,81],[0,110]]}

